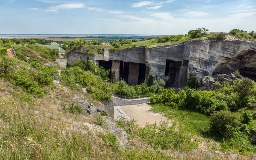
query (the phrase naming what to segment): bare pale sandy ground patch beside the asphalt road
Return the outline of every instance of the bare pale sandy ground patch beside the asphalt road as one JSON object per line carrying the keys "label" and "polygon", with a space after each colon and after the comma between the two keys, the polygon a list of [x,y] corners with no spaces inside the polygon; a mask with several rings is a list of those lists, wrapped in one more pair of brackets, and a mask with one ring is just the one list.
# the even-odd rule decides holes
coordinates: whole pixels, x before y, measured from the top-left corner
{"label": "bare pale sandy ground patch beside the asphalt road", "polygon": [[[149,110],[152,107],[148,104],[126,105],[118,107],[124,111],[131,119],[137,120],[140,127],[144,127],[146,122],[149,122],[150,124],[156,122],[159,124],[160,121],[168,120],[168,118],[162,116],[159,113],[150,112]],[[115,110],[115,112],[117,112],[117,110]]]}

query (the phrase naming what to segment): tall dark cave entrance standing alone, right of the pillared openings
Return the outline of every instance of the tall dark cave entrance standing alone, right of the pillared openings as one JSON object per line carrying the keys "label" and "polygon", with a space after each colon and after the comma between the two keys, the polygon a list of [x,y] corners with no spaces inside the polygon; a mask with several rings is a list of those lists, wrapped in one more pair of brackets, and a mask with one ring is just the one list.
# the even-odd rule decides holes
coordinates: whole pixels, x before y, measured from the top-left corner
{"label": "tall dark cave entrance standing alone, right of the pillared openings", "polygon": [[166,60],[165,76],[169,76],[171,83],[169,87],[179,87],[181,82],[181,66],[182,61]]}

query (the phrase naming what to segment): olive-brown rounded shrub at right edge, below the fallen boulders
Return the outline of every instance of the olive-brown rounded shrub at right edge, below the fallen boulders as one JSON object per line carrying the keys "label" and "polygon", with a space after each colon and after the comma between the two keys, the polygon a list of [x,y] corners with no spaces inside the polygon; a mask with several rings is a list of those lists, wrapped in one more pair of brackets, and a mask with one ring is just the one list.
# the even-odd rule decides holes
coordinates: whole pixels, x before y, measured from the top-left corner
{"label": "olive-brown rounded shrub at right edge, below the fallen boulders", "polygon": [[237,84],[237,92],[240,96],[240,98],[245,98],[247,96],[250,96],[252,94],[253,88],[255,86],[255,83],[252,79],[244,78],[243,81],[240,81]]}

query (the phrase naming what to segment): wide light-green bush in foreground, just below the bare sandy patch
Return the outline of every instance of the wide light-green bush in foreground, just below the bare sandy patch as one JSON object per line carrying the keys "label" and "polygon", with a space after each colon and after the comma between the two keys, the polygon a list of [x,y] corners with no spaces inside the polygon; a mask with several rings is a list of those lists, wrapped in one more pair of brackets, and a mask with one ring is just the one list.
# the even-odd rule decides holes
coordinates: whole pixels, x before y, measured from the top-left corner
{"label": "wide light-green bush in foreground, just below the bare sandy patch", "polygon": [[186,126],[178,125],[175,121],[170,127],[168,124],[166,121],[160,121],[158,126],[147,123],[139,129],[138,136],[154,149],[185,151],[198,148],[198,143],[192,141],[193,135]]}

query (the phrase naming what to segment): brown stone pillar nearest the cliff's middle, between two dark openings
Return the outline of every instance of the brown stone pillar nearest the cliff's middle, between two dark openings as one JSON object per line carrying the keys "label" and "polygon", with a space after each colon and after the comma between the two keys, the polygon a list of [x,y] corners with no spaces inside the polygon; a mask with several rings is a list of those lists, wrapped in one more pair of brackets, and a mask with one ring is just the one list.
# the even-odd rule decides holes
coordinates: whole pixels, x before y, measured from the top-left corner
{"label": "brown stone pillar nearest the cliff's middle, between two dark openings", "polygon": [[129,62],[129,85],[138,85],[139,81],[139,63]]}

